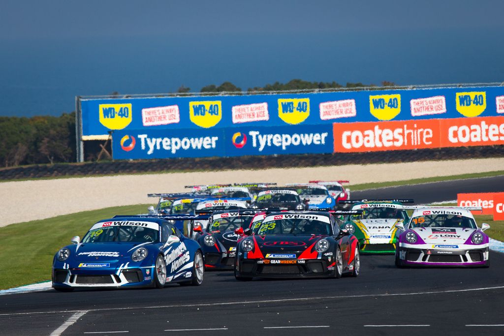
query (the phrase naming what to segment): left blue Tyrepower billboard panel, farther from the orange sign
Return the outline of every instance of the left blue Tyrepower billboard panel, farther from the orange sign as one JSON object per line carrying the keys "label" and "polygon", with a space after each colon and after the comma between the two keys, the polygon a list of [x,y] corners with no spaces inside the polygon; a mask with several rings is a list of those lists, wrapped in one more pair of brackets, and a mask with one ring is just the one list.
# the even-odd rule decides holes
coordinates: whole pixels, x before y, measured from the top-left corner
{"label": "left blue Tyrepower billboard panel, farther from the orange sign", "polygon": [[112,134],[114,159],[224,156],[224,146],[222,129],[131,129]]}

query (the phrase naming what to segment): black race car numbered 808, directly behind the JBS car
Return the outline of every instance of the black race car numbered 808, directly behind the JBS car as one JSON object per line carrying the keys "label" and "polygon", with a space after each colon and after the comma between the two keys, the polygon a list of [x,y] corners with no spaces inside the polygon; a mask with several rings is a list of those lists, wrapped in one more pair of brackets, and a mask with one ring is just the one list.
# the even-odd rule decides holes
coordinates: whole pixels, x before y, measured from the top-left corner
{"label": "black race car numbered 808, directly behind the JBS car", "polygon": [[294,190],[282,188],[268,188],[260,191],[256,203],[251,208],[285,208],[286,210],[304,210],[301,198]]}

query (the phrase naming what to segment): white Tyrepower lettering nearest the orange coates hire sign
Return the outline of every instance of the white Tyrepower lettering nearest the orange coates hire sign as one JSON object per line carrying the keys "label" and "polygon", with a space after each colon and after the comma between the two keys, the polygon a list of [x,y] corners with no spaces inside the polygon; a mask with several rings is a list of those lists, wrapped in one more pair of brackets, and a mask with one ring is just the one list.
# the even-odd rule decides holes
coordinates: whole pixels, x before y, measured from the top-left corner
{"label": "white Tyrepower lettering nearest the orange coates hire sign", "polygon": [[252,138],[252,146],[259,147],[259,152],[262,152],[266,146],[282,147],[282,150],[285,151],[291,145],[325,145],[329,133],[261,134],[257,130],[251,130],[248,135]]}

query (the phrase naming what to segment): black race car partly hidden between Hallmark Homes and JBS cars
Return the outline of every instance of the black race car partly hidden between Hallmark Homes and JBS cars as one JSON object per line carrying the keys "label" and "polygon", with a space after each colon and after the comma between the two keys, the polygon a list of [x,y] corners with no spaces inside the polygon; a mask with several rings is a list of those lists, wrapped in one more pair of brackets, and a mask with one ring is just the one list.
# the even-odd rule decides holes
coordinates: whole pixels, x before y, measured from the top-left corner
{"label": "black race car partly hidden between Hallmark Homes and JBS cars", "polygon": [[208,219],[209,225],[197,238],[203,249],[205,266],[232,270],[236,256],[236,242],[241,237],[238,229],[247,229],[259,211],[221,210]]}

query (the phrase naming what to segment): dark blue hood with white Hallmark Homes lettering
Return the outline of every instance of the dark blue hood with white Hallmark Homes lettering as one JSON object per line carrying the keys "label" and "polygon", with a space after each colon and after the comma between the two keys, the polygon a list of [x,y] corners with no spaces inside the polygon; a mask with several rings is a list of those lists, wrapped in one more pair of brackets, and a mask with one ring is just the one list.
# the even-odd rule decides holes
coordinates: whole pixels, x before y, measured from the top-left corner
{"label": "dark blue hood with white Hallmark Homes lettering", "polygon": [[152,243],[113,242],[113,243],[79,243],[69,246],[71,258],[74,260],[91,261],[118,261],[129,257],[139,246],[147,247]]}

